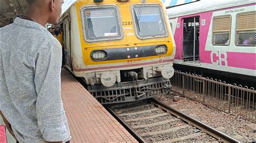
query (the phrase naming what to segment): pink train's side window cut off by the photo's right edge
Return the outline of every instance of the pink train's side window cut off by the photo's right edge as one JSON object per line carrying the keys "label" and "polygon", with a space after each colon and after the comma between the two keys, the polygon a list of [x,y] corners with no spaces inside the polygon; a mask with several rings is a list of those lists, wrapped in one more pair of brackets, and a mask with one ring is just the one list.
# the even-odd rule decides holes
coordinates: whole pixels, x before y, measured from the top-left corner
{"label": "pink train's side window cut off by the photo's right edge", "polygon": [[235,45],[256,46],[256,12],[237,15]]}

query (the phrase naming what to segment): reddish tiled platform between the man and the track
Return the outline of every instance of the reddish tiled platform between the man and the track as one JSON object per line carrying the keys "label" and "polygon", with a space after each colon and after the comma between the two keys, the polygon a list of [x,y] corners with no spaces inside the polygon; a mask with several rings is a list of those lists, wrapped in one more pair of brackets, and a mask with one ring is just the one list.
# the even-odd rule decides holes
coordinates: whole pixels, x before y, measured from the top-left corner
{"label": "reddish tiled platform between the man and the track", "polygon": [[71,142],[138,142],[66,69],[62,100]]}

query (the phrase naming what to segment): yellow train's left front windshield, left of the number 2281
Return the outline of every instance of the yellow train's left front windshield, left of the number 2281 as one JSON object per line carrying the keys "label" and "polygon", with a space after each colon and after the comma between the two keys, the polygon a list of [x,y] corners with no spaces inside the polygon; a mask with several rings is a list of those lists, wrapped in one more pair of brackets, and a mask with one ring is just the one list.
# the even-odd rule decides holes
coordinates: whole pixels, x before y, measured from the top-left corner
{"label": "yellow train's left front windshield, left of the number 2281", "polygon": [[86,41],[122,38],[119,13],[116,6],[82,9],[83,30]]}

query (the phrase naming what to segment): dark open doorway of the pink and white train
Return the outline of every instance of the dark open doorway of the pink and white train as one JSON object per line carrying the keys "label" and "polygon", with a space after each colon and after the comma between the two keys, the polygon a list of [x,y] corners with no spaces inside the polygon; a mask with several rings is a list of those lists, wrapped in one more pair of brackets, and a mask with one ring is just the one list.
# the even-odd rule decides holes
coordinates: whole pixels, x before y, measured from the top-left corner
{"label": "dark open doorway of the pink and white train", "polygon": [[199,16],[183,19],[183,61],[199,62]]}

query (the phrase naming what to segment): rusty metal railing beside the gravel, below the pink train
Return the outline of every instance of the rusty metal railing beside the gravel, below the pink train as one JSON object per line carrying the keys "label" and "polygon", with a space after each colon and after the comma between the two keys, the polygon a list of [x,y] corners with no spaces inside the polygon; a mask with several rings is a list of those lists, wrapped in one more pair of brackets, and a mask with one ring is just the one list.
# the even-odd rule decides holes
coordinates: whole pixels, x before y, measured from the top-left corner
{"label": "rusty metal railing beside the gravel, below the pink train", "polygon": [[256,90],[175,71],[172,91],[225,113],[256,123]]}

